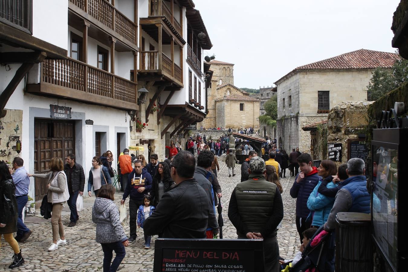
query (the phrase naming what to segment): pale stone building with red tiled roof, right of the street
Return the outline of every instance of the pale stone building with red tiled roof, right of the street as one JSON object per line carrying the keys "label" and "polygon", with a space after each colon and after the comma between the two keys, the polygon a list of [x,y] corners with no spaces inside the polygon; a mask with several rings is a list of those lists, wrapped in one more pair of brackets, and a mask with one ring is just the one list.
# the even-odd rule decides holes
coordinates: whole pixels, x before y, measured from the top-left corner
{"label": "pale stone building with red tiled roof, right of the street", "polygon": [[278,146],[310,152],[310,133],[301,128],[326,121],[340,102],[366,101],[372,72],[397,59],[395,53],[359,49],[299,66],[277,80]]}

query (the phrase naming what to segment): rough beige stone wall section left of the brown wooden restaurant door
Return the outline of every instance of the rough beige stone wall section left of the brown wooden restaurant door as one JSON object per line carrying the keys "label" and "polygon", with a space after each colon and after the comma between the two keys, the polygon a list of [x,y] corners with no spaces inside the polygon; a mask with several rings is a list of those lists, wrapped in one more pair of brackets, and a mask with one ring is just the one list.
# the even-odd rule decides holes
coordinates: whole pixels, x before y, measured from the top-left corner
{"label": "rough beige stone wall section left of the brown wooden restaurant door", "polygon": [[[11,163],[14,157],[20,157],[16,151],[16,141],[22,141],[23,111],[6,111],[6,115],[0,118],[0,160]],[[28,146],[29,143],[22,141],[21,146],[23,145]]]}

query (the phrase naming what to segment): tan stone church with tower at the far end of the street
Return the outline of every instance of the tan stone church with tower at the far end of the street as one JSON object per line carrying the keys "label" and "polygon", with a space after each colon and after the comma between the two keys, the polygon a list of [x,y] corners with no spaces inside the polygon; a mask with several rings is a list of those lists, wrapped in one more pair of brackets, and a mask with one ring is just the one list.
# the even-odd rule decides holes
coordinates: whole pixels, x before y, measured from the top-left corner
{"label": "tan stone church with tower at the far end of the street", "polygon": [[234,64],[217,60],[208,64],[213,71],[207,90],[208,112],[197,128],[259,128],[260,100],[234,86]]}

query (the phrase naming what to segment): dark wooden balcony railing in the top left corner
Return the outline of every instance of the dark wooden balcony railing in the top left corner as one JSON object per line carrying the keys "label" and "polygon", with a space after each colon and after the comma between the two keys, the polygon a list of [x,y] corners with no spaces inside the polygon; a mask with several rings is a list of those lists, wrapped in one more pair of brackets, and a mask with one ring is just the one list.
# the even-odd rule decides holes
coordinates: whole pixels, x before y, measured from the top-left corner
{"label": "dark wooden balcony railing in the top left corner", "polygon": [[32,2],[27,0],[0,1],[0,22],[16,27],[24,32],[32,33]]}

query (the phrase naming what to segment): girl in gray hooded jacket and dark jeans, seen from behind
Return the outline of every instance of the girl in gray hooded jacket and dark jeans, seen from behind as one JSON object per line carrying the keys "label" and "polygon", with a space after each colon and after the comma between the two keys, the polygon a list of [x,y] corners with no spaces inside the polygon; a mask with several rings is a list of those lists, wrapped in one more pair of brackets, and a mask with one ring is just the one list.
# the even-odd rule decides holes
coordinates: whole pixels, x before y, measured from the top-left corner
{"label": "girl in gray hooded jacket and dark jeans, seen from behind", "polygon": [[[113,202],[114,195],[113,186],[110,184],[102,186],[92,207],[92,221],[96,223],[96,241],[102,245],[104,252],[104,272],[118,270],[126,254],[124,247],[129,245],[128,238],[120,225],[118,207]],[[111,263],[113,251],[116,257]]]}

